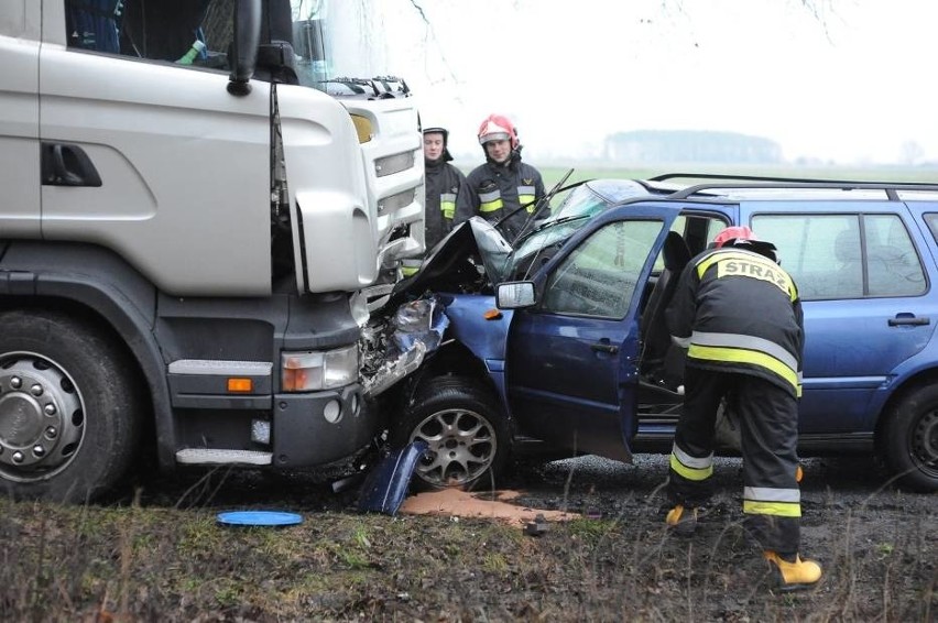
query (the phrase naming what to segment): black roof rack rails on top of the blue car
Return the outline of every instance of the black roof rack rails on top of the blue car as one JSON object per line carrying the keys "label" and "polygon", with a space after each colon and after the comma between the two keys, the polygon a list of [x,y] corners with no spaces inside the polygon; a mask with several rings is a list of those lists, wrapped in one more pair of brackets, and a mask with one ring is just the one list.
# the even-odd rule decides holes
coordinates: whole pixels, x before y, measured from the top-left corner
{"label": "black roof rack rails on top of the blue car", "polygon": [[812,179],[797,177],[770,177],[756,175],[722,175],[711,173],[666,173],[650,177],[650,182],[666,182],[676,178],[729,181],[695,184],[668,195],[669,199],[687,199],[701,190],[716,188],[829,188],[836,190],[883,190],[891,201],[898,201],[899,190],[938,192],[938,184],[923,182],[860,182],[847,179]]}

